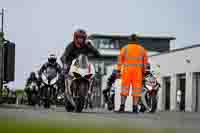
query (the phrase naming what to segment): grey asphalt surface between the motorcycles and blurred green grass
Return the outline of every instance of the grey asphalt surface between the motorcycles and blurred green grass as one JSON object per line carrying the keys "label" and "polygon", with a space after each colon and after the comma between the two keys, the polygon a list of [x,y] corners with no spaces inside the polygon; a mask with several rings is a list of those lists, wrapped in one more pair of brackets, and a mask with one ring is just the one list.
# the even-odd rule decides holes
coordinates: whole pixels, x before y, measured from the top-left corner
{"label": "grey asphalt surface between the motorcycles and blurred green grass", "polygon": [[[82,113],[66,112],[64,107],[56,109],[34,108],[22,105],[0,105],[0,117],[14,117],[28,120],[50,120],[62,122],[86,122],[99,127],[119,124],[123,127],[146,128],[200,128],[200,113],[157,112],[149,113],[115,113],[104,109],[87,110]],[[196,132],[197,130],[193,130]]]}

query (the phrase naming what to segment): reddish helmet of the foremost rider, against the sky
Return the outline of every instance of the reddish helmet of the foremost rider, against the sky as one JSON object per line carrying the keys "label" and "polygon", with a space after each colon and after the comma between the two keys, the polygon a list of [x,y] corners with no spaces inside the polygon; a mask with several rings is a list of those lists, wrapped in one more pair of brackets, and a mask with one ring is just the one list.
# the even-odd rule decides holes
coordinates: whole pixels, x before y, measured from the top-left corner
{"label": "reddish helmet of the foremost rider, against the sky", "polygon": [[85,45],[87,39],[87,33],[84,29],[78,29],[74,32],[74,44],[77,48],[81,48]]}

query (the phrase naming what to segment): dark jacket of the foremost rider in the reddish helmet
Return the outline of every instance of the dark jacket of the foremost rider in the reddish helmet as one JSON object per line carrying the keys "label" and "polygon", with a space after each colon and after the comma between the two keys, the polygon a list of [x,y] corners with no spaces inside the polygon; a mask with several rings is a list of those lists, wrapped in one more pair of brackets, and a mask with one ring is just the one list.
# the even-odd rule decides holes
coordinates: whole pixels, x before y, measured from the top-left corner
{"label": "dark jacket of the foremost rider in the reddish helmet", "polygon": [[71,42],[65,48],[65,51],[61,56],[61,62],[63,64],[71,66],[72,61],[75,58],[77,58],[80,54],[88,55],[89,53],[91,53],[95,57],[100,57],[99,51],[96,48],[94,48],[90,42],[87,42],[87,44],[83,48],[76,48],[76,46],[73,43],[74,42]]}

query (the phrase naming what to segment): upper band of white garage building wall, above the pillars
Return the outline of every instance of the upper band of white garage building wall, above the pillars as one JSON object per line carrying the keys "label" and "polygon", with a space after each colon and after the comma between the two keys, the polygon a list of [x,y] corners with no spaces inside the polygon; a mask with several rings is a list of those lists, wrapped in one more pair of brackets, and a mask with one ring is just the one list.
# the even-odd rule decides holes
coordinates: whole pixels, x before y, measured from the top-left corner
{"label": "upper band of white garage building wall, above the pillars", "polygon": [[[200,71],[199,61],[200,47],[186,49],[183,51],[161,54],[149,58],[150,62],[160,65],[161,76],[173,75],[174,73],[185,73]],[[191,63],[187,63],[190,59]]]}

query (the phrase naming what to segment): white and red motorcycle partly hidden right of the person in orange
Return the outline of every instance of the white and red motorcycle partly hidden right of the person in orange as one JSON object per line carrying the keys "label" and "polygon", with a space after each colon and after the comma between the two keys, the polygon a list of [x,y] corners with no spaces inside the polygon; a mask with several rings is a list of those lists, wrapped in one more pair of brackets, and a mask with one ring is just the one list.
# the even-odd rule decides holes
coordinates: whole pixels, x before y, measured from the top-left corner
{"label": "white and red motorcycle partly hidden right of the person in orange", "polygon": [[160,84],[158,83],[155,75],[152,73],[145,76],[143,93],[140,103],[140,112],[154,113],[157,109],[158,91]]}

